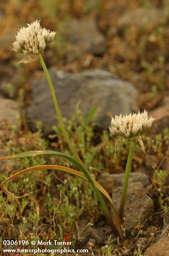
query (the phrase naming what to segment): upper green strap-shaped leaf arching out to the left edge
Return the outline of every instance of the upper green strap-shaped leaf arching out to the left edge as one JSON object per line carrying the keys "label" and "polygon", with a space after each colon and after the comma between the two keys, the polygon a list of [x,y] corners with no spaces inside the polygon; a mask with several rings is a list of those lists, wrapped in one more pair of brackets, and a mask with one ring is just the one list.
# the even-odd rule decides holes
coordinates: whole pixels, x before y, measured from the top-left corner
{"label": "upper green strap-shaped leaf arching out to the left edge", "polygon": [[[98,199],[101,203],[101,206],[103,208],[105,208],[105,202],[104,199],[102,197],[102,195],[100,194],[100,192],[106,196],[106,198],[108,199],[108,201],[111,203],[112,209],[113,209],[113,213],[114,213],[114,217],[117,223],[117,228],[118,228],[118,232],[120,237],[122,237],[122,231],[121,231],[121,221],[119,219],[119,215],[113,205],[112,199],[110,197],[110,195],[106,192],[106,190],[99,184],[99,188],[96,187],[94,180],[90,177],[90,175],[88,175],[88,172],[85,170],[85,168],[83,168],[83,166],[77,162],[74,158],[72,158],[69,155],[65,155],[63,153],[60,152],[56,152],[56,151],[52,151],[52,150],[41,150],[41,151],[28,151],[28,152],[24,152],[24,153],[20,153],[17,155],[9,155],[9,156],[5,156],[5,157],[0,157],[0,160],[3,159],[16,159],[16,158],[24,158],[24,157],[33,157],[33,156],[38,156],[38,155],[57,155],[60,157],[63,157],[67,160],[69,160],[70,162],[74,163],[81,171],[82,173],[85,175],[86,180],[88,180],[88,182],[91,184],[94,192],[96,193],[96,195],[98,196]],[[24,171],[24,170],[23,170]],[[74,170],[75,171],[75,170]],[[78,172],[80,174],[80,172]],[[7,180],[6,180],[7,181]],[[2,186],[2,185],[1,185]],[[113,227],[114,230],[116,230],[115,226]],[[115,233],[117,233],[117,231],[115,231]]]}

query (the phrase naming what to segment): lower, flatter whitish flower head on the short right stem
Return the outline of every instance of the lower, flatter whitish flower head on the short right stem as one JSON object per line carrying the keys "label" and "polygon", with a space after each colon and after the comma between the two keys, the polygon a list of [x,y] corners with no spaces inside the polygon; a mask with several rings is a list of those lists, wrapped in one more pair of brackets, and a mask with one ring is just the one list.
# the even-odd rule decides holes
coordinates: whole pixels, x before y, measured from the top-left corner
{"label": "lower, flatter whitish flower head on the short right stem", "polygon": [[112,117],[110,132],[126,139],[145,134],[152,125],[154,118],[148,119],[147,111],[138,114],[119,115]]}

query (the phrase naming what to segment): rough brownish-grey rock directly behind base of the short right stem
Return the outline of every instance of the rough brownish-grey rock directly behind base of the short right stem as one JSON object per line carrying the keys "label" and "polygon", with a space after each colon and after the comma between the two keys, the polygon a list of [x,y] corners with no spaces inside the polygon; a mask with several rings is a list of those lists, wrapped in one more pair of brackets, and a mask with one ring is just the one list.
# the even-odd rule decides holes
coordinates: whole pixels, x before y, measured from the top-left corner
{"label": "rough brownish-grey rock directly behind base of the short right stem", "polygon": [[[116,209],[119,209],[122,187],[113,190],[112,200]],[[130,183],[128,186],[124,216],[126,218],[126,233],[131,234],[139,222],[143,223],[153,213],[153,200],[146,195],[141,182]],[[139,217],[139,220],[138,220]],[[147,223],[144,223],[144,226]]]}

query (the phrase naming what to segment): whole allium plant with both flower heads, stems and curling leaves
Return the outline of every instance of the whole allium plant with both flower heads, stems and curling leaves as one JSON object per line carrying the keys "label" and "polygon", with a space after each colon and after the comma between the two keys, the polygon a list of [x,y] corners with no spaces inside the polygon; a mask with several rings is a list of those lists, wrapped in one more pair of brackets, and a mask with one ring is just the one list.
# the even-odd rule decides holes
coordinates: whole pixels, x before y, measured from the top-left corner
{"label": "whole allium plant with both flower heads, stems and curling leaves", "polygon": [[[13,43],[13,50],[16,51],[17,53],[25,54],[25,58],[22,59],[19,63],[28,63],[28,62],[35,61],[35,60],[39,59],[41,66],[44,70],[44,74],[46,75],[46,79],[48,81],[50,92],[52,94],[52,98],[53,98],[53,102],[55,105],[56,114],[57,114],[60,128],[62,129],[63,135],[69,145],[69,148],[70,148],[72,154],[74,155],[74,158],[69,155],[62,154],[60,152],[44,150],[44,151],[28,151],[28,152],[21,153],[18,155],[0,157],[0,159],[23,158],[23,157],[31,157],[31,156],[37,156],[37,155],[57,155],[57,156],[63,157],[64,159],[67,159],[70,162],[72,162],[73,164],[75,164],[76,167],[78,167],[83,174],[81,172],[75,171],[71,168],[66,168],[66,167],[58,166],[58,165],[35,166],[35,167],[31,167],[31,168],[22,170],[19,173],[6,179],[6,181],[4,181],[1,184],[1,189],[7,195],[14,197],[16,199],[22,198],[24,196],[29,196],[31,198],[31,200],[33,200],[36,203],[37,213],[39,213],[38,202],[36,201],[35,198],[33,198],[32,195],[29,195],[29,194],[25,194],[22,196],[12,195],[10,192],[8,192],[4,188],[4,184],[7,181],[14,179],[21,174],[24,174],[28,171],[37,170],[37,169],[56,169],[56,170],[62,170],[64,172],[67,172],[72,175],[76,175],[77,177],[80,177],[83,180],[86,180],[90,183],[90,185],[92,186],[92,189],[94,190],[94,192],[96,193],[96,195],[100,201],[102,209],[103,209],[105,216],[112,228],[114,235],[119,236],[122,239],[123,232],[122,232],[121,224],[122,224],[123,211],[124,211],[124,205],[125,205],[125,197],[126,197],[126,193],[127,193],[128,178],[129,178],[129,173],[130,173],[130,169],[131,169],[131,161],[132,161],[132,155],[133,155],[133,149],[134,149],[134,140],[137,139],[138,142],[140,143],[141,148],[144,150],[141,135],[146,133],[150,129],[150,127],[152,125],[152,121],[154,119],[152,119],[152,118],[148,119],[146,111],[144,111],[144,113],[138,113],[137,115],[136,114],[130,114],[130,115],[125,115],[125,116],[120,115],[120,116],[116,116],[115,119],[112,118],[112,123],[111,123],[112,126],[110,128],[110,132],[113,135],[120,136],[120,138],[116,141],[116,146],[117,146],[118,142],[121,141],[123,138],[130,141],[130,152],[129,152],[126,170],[125,170],[124,188],[123,188],[121,204],[120,204],[120,209],[119,209],[119,214],[118,214],[116,209],[114,208],[114,205],[113,205],[110,195],[106,192],[106,190],[98,182],[94,181],[94,179],[92,178],[92,175],[88,171],[85,164],[83,162],[81,162],[81,159],[77,155],[76,150],[73,147],[73,145],[67,135],[67,132],[64,128],[62,115],[60,113],[57,99],[56,99],[56,94],[55,94],[55,91],[54,91],[54,88],[53,88],[53,85],[52,85],[52,82],[50,79],[50,75],[48,73],[48,70],[46,68],[46,65],[45,65],[44,60],[41,55],[43,53],[46,45],[49,44],[52,40],[54,40],[55,34],[56,34],[56,32],[50,32],[50,30],[42,28],[40,26],[39,21],[36,20],[33,23],[28,24],[28,27],[26,27],[26,28],[23,27],[19,30],[18,34],[16,35],[16,41]],[[110,203],[111,209],[113,210],[115,224],[113,222],[111,210],[107,206],[106,199]]]}

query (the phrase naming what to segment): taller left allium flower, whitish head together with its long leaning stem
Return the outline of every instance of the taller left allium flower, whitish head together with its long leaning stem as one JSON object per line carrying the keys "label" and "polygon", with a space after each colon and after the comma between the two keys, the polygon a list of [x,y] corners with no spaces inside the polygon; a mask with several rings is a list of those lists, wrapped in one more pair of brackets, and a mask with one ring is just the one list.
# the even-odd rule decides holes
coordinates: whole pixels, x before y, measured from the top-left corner
{"label": "taller left allium flower, whitish head together with its long leaning stem", "polygon": [[34,21],[31,24],[27,24],[27,25],[28,25],[28,27],[21,28],[19,30],[18,34],[16,35],[16,41],[13,43],[13,50],[17,53],[25,54],[25,58],[22,59],[19,63],[28,63],[28,62],[35,61],[35,60],[39,59],[41,66],[43,67],[46,79],[48,81],[48,85],[49,85],[50,92],[51,92],[51,95],[53,98],[53,102],[55,105],[56,114],[57,114],[57,118],[58,118],[60,127],[61,127],[63,135],[69,145],[69,148],[70,148],[71,152],[73,153],[76,161],[82,166],[84,174],[85,174],[86,178],[88,179],[88,182],[92,186],[94,192],[96,193],[96,195],[100,201],[100,204],[102,206],[102,209],[105,213],[105,216],[106,216],[107,220],[109,221],[114,234],[116,236],[119,235],[122,238],[123,234],[122,234],[122,230],[121,230],[121,221],[120,221],[118,213],[113,208],[113,213],[114,213],[115,221],[116,221],[116,225],[117,225],[117,229],[116,229],[116,227],[113,223],[113,218],[110,214],[110,210],[107,208],[104,196],[102,194],[100,194],[100,191],[95,187],[90,172],[88,171],[85,164],[81,161],[80,157],[76,153],[76,150],[73,147],[71,141],[69,140],[67,132],[64,128],[62,115],[60,113],[59,106],[58,106],[57,99],[56,99],[56,94],[55,94],[55,91],[54,91],[54,88],[53,88],[53,85],[52,85],[52,82],[50,79],[49,72],[47,70],[47,67],[46,67],[44,60],[42,58],[42,55],[41,55],[44,52],[46,45],[49,44],[54,39],[56,32],[50,32],[50,30],[40,27],[38,20]]}

